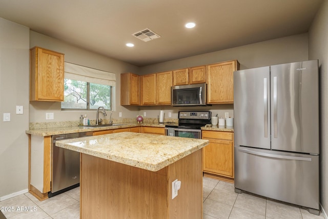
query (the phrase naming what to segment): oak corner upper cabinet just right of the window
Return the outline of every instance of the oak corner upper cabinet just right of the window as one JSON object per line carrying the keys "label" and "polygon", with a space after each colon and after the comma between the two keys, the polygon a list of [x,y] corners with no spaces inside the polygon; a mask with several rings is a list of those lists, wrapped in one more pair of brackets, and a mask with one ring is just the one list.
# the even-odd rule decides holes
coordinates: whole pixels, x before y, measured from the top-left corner
{"label": "oak corner upper cabinet just right of the window", "polygon": [[140,76],[132,73],[121,74],[120,104],[140,105]]}

